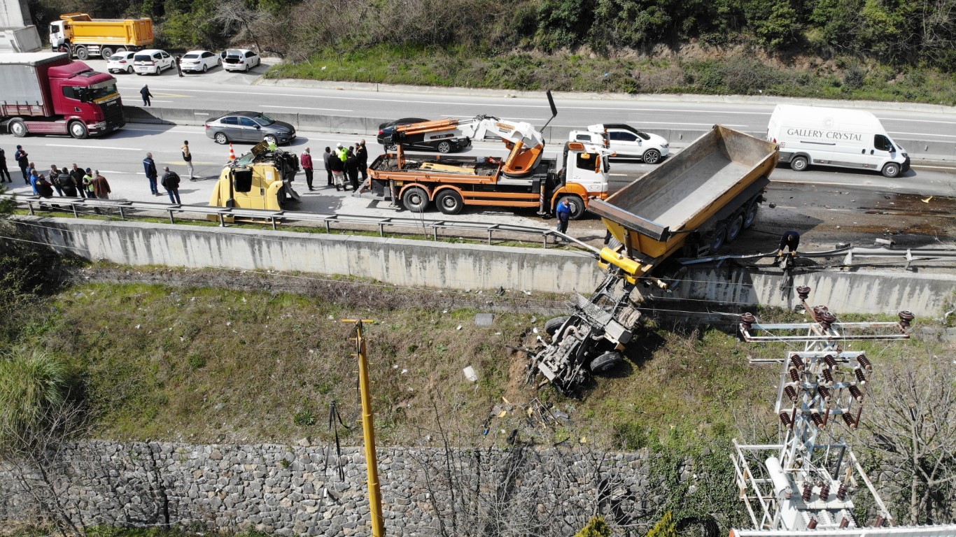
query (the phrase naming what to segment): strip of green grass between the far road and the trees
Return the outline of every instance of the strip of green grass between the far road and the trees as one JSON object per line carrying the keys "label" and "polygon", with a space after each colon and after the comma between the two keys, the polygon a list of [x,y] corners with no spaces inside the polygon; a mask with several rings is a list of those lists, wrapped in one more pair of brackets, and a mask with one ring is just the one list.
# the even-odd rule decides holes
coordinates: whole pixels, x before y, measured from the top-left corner
{"label": "strip of green grass between the far road and the trees", "polygon": [[521,91],[737,94],[956,105],[956,75],[895,70],[849,57],[776,68],[745,55],[681,61],[376,46],[340,56],[321,51],[308,61],[274,66],[266,76]]}

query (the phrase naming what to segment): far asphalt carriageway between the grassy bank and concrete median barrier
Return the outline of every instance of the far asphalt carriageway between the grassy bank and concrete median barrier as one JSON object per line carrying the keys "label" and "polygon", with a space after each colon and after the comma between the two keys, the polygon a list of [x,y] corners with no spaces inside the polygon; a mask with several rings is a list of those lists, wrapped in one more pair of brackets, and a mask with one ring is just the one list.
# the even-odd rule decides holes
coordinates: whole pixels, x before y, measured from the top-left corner
{"label": "far asphalt carriageway between the grassy bank and concrete median barrier", "polygon": [[[105,70],[102,60],[87,63]],[[163,75],[116,75],[120,94],[128,103],[141,103],[140,89],[149,84],[153,105],[186,109],[261,110],[305,112],[358,118],[472,118],[489,114],[543,125],[550,117],[543,97],[475,97],[440,93],[384,93],[358,90],[252,85],[266,71],[227,73],[216,68],[205,75],[180,78],[175,71]],[[653,98],[653,97],[650,97]],[[682,99],[628,100],[617,98],[555,98],[558,116],[553,125],[584,127],[599,122],[628,122],[645,128],[707,129],[715,123],[748,132],[763,132],[773,104],[694,102]],[[836,104],[835,104],[836,105]],[[952,114],[872,110],[894,138],[956,143],[956,111]],[[680,142],[681,140],[671,140]],[[684,140],[688,141],[688,140]]]}

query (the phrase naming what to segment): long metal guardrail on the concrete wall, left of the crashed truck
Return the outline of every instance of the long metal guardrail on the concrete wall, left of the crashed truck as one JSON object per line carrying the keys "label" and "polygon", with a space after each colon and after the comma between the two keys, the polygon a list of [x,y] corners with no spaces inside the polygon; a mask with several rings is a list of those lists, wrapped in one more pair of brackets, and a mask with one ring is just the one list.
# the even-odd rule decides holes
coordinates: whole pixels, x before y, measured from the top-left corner
{"label": "long metal guardrail on the concrete wall, left of the crashed truck", "polygon": [[[40,198],[38,196],[24,196],[11,193],[0,194],[0,199],[7,199],[21,208],[26,208],[31,215],[37,211],[43,210],[61,210],[71,211],[75,218],[89,214],[102,214],[103,211],[119,214],[120,220],[127,220],[140,211],[151,211],[153,213],[166,213],[169,216],[169,223],[176,224],[176,216],[194,215],[205,219],[211,219],[219,222],[220,226],[226,227],[228,220],[235,218],[244,218],[267,222],[272,225],[272,229],[278,229],[278,224],[288,222],[313,222],[325,225],[326,232],[332,232],[334,224],[352,225],[352,226],[376,226],[379,229],[379,235],[385,235],[385,227],[405,227],[405,228],[427,228],[431,231],[434,240],[439,239],[439,231],[442,229],[457,229],[467,231],[484,231],[488,233],[488,244],[492,244],[494,233],[518,233],[527,235],[539,235],[545,248],[549,246],[549,239],[552,244],[556,244],[558,239],[584,247],[592,252],[597,252],[595,247],[578,241],[574,237],[560,233],[554,229],[546,227],[533,226],[513,226],[511,224],[486,224],[478,222],[455,222],[448,220],[427,220],[419,218],[398,218],[398,217],[378,217],[347,214],[324,214],[303,211],[274,211],[264,209],[244,209],[236,207],[217,207],[210,205],[193,204],[160,204],[155,202],[132,202],[128,200],[97,200],[90,198],[69,198],[54,197]],[[93,212],[90,212],[90,209]],[[210,218],[211,217],[211,218]]]}

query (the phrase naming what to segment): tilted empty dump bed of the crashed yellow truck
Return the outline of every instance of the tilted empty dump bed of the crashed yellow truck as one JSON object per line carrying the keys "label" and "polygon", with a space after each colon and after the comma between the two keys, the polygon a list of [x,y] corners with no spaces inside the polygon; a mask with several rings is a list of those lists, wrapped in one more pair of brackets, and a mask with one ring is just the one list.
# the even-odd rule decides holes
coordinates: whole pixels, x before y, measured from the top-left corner
{"label": "tilted empty dump bed of the crashed yellow truck", "polygon": [[660,258],[680,247],[686,232],[728,216],[741,199],[759,192],[776,161],[776,144],[715,125],[641,179],[593,201],[589,210],[635,253]]}

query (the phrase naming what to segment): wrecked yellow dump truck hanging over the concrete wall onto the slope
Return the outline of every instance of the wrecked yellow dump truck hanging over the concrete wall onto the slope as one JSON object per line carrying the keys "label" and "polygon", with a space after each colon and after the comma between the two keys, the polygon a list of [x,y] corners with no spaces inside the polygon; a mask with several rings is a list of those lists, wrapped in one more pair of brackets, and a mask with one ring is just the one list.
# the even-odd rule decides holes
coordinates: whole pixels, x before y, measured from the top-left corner
{"label": "wrecked yellow dump truck hanging over the concrete wall onto the slope", "polygon": [[614,237],[600,251],[607,275],[589,298],[576,296],[570,315],[545,324],[551,341],[541,341],[532,375],[573,392],[617,366],[640,318],[630,300],[638,281],[664,287],[668,258],[737,240],[756,219],[777,158],[776,144],[716,125],[641,179],[592,200],[588,210]]}

